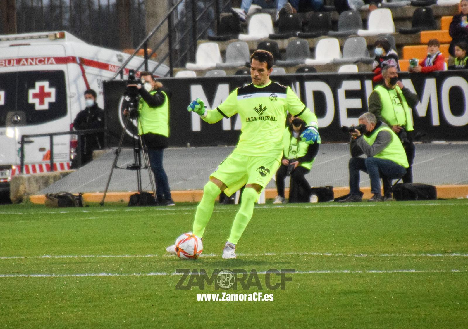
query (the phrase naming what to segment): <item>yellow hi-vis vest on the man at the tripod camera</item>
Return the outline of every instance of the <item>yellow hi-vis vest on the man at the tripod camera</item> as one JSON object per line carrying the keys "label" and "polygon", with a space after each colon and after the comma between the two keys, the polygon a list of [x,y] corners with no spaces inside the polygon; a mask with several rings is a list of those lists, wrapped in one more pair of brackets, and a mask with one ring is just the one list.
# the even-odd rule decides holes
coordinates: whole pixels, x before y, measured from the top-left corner
{"label": "yellow hi-vis vest on the man at the tripod camera", "polygon": [[[151,91],[150,94],[154,95],[157,91]],[[138,134],[153,133],[169,137],[169,101],[168,95],[163,91],[164,103],[158,107],[149,107],[143,98],[139,101],[139,122]]]}

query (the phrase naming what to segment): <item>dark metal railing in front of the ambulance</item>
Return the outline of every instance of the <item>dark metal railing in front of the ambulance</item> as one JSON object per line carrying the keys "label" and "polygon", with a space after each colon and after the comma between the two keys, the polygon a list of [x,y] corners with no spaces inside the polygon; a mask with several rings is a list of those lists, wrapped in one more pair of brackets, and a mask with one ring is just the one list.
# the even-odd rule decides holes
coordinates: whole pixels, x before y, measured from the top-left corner
{"label": "dark metal railing in front of the ambulance", "polygon": [[[58,133],[44,133],[44,134],[31,134],[31,135],[22,135],[21,136],[21,151],[20,151],[20,172],[24,174],[24,144],[30,143],[26,141],[26,138],[31,137],[49,137],[49,146],[51,150],[51,157],[50,157],[50,171],[54,171],[54,136],[61,136],[61,135],[78,135],[78,146],[77,146],[77,155],[78,155],[78,167],[81,167],[81,136],[88,135],[93,133],[104,133],[107,135],[107,129],[86,129],[86,130],[76,130],[76,131],[62,131]],[[107,148],[107,138],[104,138],[104,148]]]}

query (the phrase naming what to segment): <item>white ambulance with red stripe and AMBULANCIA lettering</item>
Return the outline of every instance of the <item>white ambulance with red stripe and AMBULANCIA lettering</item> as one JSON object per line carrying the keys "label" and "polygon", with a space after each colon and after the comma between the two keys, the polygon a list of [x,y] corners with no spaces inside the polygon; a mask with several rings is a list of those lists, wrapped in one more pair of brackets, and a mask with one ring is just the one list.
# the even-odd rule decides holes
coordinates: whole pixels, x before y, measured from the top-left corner
{"label": "white ambulance with red stripe and AMBULANCIA lettering", "polygon": [[[0,191],[20,174],[21,136],[70,130],[85,108],[83,93],[94,89],[103,108],[102,81],[111,79],[130,55],[85,43],[68,32],[0,35]],[[133,57],[124,71],[137,69]],[[148,61],[152,71],[158,63]],[[156,77],[168,72],[160,65]],[[139,71],[144,71],[144,65]],[[137,72],[138,75],[138,72]],[[119,79],[119,78],[117,78]],[[24,173],[50,171],[50,138],[25,140]],[[70,136],[54,136],[54,170],[70,168]]]}

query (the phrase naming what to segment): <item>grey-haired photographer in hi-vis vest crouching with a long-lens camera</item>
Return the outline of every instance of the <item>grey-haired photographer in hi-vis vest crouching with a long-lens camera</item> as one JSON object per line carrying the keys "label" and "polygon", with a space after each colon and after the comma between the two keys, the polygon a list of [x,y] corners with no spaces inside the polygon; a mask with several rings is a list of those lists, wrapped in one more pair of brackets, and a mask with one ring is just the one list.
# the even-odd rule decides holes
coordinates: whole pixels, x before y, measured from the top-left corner
{"label": "grey-haired photographer in hi-vis vest crouching with a long-lens camera", "polygon": [[[408,168],[405,150],[395,132],[387,124],[378,121],[372,113],[359,117],[362,131],[354,129],[351,135],[351,159],[349,161],[350,195],[340,202],[360,202],[359,171],[369,174],[371,192],[369,201],[383,201],[380,193],[380,176],[388,179],[402,178]],[[366,154],[367,158],[359,157]]]}

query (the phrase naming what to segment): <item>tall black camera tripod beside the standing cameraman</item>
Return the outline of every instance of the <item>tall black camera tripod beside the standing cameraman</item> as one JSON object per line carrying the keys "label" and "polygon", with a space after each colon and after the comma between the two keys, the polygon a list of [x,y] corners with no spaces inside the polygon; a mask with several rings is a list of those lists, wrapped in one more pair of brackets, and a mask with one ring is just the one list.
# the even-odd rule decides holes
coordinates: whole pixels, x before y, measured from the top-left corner
{"label": "tall black camera tripod beside the standing cameraman", "polygon": [[[127,107],[127,110],[129,110],[129,107]],[[141,135],[138,135],[138,132],[137,132],[138,141],[135,139],[134,135],[132,136],[132,138],[133,138],[133,161],[134,161],[133,164],[128,164],[126,168],[117,166],[117,160],[118,160],[118,157],[120,156],[120,152],[122,150],[122,143],[124,142],[125,131],[127,130],[127,126],[128,126],[128,122],[130,121],[131,114],[135,113],[135,111],[137,111],[135,108],[131,109],[129,111],[129,114],[127,114],[127,116],[125,118],[124,129],[122,130],[122,134],[120,136],[120,141],[119,141],[119,144],[118,144],[118,148],[116,150],[116,156],[114,158],[114,163],[112,164],[112,169],[110,170],[109,179],[107,180],[107,184],[106,184],[106,189],[104,190],[104,195],[102,196],[102,200],[100,202],[101,206],[104,205],[104,200],[106,199],[107,190],[109,189],[110,179],[112,178],[112,173],[114,172],[114,169],[116,169],[116,168],[117,169],[125,169],[125,170],[135,170],[137,172],[138,193],[142,192],[142,190],[141,190],[141,169],[147,169],[148,174],[149,174],[149,181],[150,181],[150,184],[151,184],[151,189],[152,189],[153,195],[154,195],[154,202],[157,202],[157,200],[156,200],[156,188],[155,188],[155,184],[154,184],[153,173],[151,171],[151,166],[150,166],[150,163],[149,163],[148,154],[145,152],[145,147],[144,147],[143,140],[141,139]],[[140,124],[138,114],[137,114],[137,121],[138,121],[138,124]],[[144,167],[142,167],[142,163],[141,163],[141,153],[143,153]]]}

